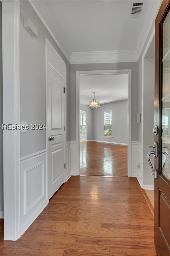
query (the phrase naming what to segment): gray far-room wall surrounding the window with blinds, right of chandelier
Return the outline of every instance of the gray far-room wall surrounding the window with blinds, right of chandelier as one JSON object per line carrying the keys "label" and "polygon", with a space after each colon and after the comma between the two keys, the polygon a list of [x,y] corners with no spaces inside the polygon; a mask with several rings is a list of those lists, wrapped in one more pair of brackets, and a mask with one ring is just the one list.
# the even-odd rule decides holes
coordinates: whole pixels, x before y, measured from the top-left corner
{"label": "gray far-room wall surrounding the window with blinds, right of chandelier", "polygon": [[[112,110],[112,136],[104,137],[104,112]],[[128,144],[128,100],[100,105],[93,113],[93,139]],[[124,138],[124,140],[122,140]]]}

